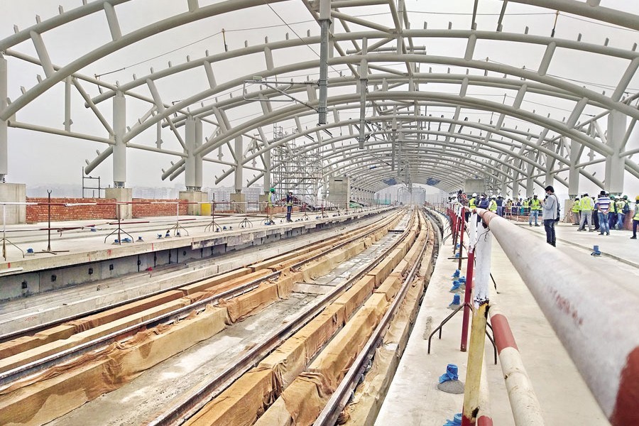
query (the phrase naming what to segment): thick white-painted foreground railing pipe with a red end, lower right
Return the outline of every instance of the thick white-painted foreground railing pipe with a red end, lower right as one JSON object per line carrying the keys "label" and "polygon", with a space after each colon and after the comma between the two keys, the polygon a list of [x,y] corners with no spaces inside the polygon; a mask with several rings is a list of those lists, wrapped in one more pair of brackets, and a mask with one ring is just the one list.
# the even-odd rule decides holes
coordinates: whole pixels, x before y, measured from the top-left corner
{"label": "thick white-painted foreground railing pipe with a red end, lower right", "polygon": [[[506,219],[477,209],[613,426],[639,425],[639,295]],[[533,253],[534,250],[534,253]],[[532,254],[532,256],[531,256]],[[540,273],[540,268],[547,273]]]}

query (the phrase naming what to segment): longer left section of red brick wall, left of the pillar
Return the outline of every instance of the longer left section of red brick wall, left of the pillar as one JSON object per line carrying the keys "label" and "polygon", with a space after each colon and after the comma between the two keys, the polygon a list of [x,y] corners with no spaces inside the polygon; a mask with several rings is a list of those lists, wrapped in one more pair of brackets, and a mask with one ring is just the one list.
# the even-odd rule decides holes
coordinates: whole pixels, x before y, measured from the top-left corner
{"label": "longer left section of red brick wall, left of the pillar", "polygon": [[[26,202],[42,202],[47,203],[47,198],[31,198],[27,197]],[[115,219],[116,206],[113,204],[115,199],[108,198],[52,198],[52,203],[86,203],[95,202],[92,206],[70,206],[63,205],[51,206],[51,221],[58,222],[63,220],[89,220],[89,219]],[[28,224],[35,222],[47,222],[48,205],[35,204],[26,206],[26,220]]]}

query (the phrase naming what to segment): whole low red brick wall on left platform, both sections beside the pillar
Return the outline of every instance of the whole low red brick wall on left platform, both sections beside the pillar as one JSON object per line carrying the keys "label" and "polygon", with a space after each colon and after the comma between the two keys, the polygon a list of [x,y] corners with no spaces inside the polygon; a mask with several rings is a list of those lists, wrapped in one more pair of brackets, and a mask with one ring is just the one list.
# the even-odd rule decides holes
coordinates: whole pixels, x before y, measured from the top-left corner
{"label": "whole low red brick wall on left platform, both sections beside the pillar", "polygon": [[[178,202],[180,201],[180,214],[187,214],[185,200],[147,200],[134,198],[133,202],[148,204],[133,204],[133,217],[175,216],[177,206],[175,204],[151,204],[153,202]],[[27,197],[26,202],[47,203],[48,198]],[[75,204],[97,203],[90,206],[52,205],[51,221],[65,220],[90,220],[90,219],[116,219],[116,200],[114,198],[52,198],[52,203]],[[48,221],[48,205],[35,204],[26,206],[26,220],[28,224]]]}

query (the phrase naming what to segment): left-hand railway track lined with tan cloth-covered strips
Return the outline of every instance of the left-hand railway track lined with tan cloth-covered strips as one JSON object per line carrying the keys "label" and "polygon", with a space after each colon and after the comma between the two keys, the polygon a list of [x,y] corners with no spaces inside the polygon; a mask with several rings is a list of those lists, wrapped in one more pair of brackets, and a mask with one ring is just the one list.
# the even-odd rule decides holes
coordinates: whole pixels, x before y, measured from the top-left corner
{"label": "left-hand railway track lined with tan cloth-covered strips", "polygon": [[[391,222],[397,222],[398,219],[398,215],[393,215],[378,224],[324,241],[312,249],[285,253],[247,268],[204,280],[207,282],[182,285],[182,287],[162,295],[138,301],[134,307],[124,305],[114,308],[113,312],[109,312],[109,310],[100,312],[93,317],[75,321],[73,324],[61,324],[53,329],[42,330],[37,333],[39,335],[36,337],[22,337],[16,341],[5,342],[0,348],[0,354],[4,354],[4,356],[0,356],[0,380],[4,383],[4,386],[0,388],[0,422],[9,424],[18,417],[22,417],[23,420],[29,417],[28,414],[24,413],[25,405],[20,405],[20,398],[12,400],[12,395],[15,397],[16,392],[21,395],[28,394],[29,392],[25,391],[26,388],[34,383],[40,383],[34,381],[34,375],[40,374],[46,377],[51,370],[57,369],[53,374],[59,378],[75,368],[79,356],[80,359],[89,355],[94,356],[94,354],[105,351],[105,346],[111,348],[111,346],[121,345],[122,342],[131,344],[140,334],[145,332],[148,334],[149,330],[179,327],[181,323],[185,323],[195,316],[216,317],[217,315],[217,320],[221,320],[222,324],[227,320],[231,322],[241,320],[243,317],[251,315],[251,310],[256,308],[247,308],[244,303],[246,300],[251,299],[254,295],[273,293],[275,297],[278,297],[278,292],[290,291],[295,280],[303,279],[304,274],[312,275],[322,268],[326,268],[324,263],[327,261],[330,263],[330,261],[337,261],[338,258],[351,256],[349,252],[355,253],[357,246],[372,244],[373,239],[377,239],[378,236],[381,236],[380,234],[391,229]],[[178,295],[180,297],[177,297]],[[185,298],[188,302],[187,305],[184,305],[186,302],[183,299]],[[149,317],[148,306],[150,305],[154,305],[151,310],[155,310],[155,313],[161,311],[160,314]],[[257,307],[261,309],[264,307],[262,305],[264,303],[258,303]],[[145,307],[147,309],[143,309]],[[211,310],[215,311],[214,315],[209,315]],[[131,315],[125,316],[124,313],[118,314],[118,312],[131,314],[132,311],[135,311],[133,317]],[[224,311],[224,315],[221,314],[222,311]],[[108,319],[109,322],[106,322],[105,319]],[[76,332],[77,329],[83,329],[83,331]],[[82,341],[82,337],[79,337],[82,333],[91,334],[96,331],[97,333],[94,334],[99,334],[99,337],[95,339]],[[11,343],[14,345],[11,346]],[[61,350],[54,351],[53,346]],[[18,353],[11,355],[11,350]],[[36,356],[37,354],[44,356]],[[18,362],[18,358],[21,359],[21,362]],[[162,360],[160,359],[160,361]],[[67,366],[60,366],[64,362],[67,362]],[[32,376],[27,384],[19,380],[26,376]],[[50,378],[45,380],[50,380]],[[41,397],[42,395],[40,395]],[[38,421],[42,420],[37,420],[40,417],[35,414],[29,418],[28,422],[15,422],[15,424],[38,424]],[[18,420],[20,419],[18,418]],[[35,423],[33,423],[34,420]]]}

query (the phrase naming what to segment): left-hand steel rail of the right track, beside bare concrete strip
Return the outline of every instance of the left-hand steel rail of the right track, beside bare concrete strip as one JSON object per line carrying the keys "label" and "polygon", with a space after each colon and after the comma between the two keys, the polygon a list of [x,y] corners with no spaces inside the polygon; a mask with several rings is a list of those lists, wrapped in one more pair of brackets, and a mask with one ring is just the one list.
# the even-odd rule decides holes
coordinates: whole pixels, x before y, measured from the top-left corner
{"label": "left-hand steel rail of the right track, beside bare concrete strip", "polygon": [[173,405],[173,407],[165,410],[164,413],[156,417],[152,422],[148,423],[148,426],[168,426],[168,425],[180,425],[183,421],[195,415],[200,411],[204,405],[209,403],[210,400],[216,398],[217,395],[222,393],[228,386],[237,380],[242,374],[249,371],[250,368],[258,364],[258,361],[263,358],[263,353],[270,353],[275,348],[280,346],[286,339],[291,337],[295,332],[305,326],[310,320],[319,315],[329,302],[332,302],[338,295],[351,288],[351,286],[358,280],[364,277],[368,272],[375,268],[381,261],[383,261],[388,253],[391,253],[395,247],[402,242],[408,233],[410,227],[407,226],[403,231],[400,238],[391,244],[388,249],[383,253],[376,256],[371,263],[362,269],[359,273],[344,281],[341,285],[337,286],[330,293],[323,295],[320,300],[305,312],[300,312],[294,320],[285,324],[280,329],[272,332],[266,339],[260,344],[255,346],[251,351],[242,356],[241,359],[232,366],[229,366],[217,376],[207,381],[204,385],[197,388],[191,395],[180,401],[180,403]]}

